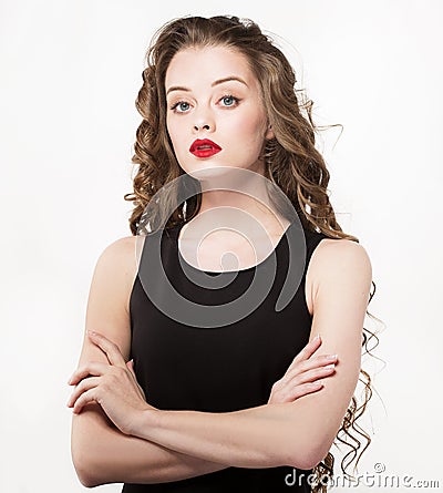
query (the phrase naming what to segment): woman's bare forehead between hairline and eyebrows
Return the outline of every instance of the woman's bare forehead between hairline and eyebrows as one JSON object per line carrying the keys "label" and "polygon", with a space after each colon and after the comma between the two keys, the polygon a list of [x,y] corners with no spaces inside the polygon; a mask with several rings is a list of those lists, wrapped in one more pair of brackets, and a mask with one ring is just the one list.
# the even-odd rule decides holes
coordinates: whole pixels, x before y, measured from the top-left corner
{"label": "woman's bare forehead between hairline and eyebrows", "polygon": [[257,85],[248,59],[227,47],[186,48],[172,59],[166,71],[165,86],[210,85],[214,81],[237,75],[251,88]]}

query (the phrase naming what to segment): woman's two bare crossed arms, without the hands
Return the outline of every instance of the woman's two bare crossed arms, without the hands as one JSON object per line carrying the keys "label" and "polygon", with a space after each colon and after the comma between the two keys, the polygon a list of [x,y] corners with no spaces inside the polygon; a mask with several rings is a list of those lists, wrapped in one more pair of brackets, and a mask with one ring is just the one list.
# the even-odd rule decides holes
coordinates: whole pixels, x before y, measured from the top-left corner
{"label": "woman's two bare crossed arms, without the hands", "polygon": [[[94,270],[86,310],[86,329],[114,341],[124,361],[131,343],[133,251],[132,237],[104,250]],[[233,465],[311,469],[320,462],[356,389],[372,273],[365,250],[349,240],[320,243],[309,269],[311,341],[320,333],[318,355],[338,355],[336,371],[323,380],[320,391],[229,413],[147,407],[134,413],[136,419],[123,432],[99,403],[90,402],[72,420],[72,456],[80,481],[85,486],[157,483]],[[79,368],[91,361],[110,366],[106,353],[85,337]]]}

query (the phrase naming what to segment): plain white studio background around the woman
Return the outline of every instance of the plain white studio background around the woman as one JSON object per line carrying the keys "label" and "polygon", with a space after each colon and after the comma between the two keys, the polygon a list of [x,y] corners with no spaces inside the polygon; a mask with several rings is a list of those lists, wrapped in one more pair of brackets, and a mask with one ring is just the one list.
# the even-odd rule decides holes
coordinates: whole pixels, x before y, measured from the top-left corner
{"label": "plain white studio background around the woman", "polygon": [[0,2],[1,491],[85,490],[70,456],[66,380],[95,261],[131,235],[123,195],[145,49],[172,18],[220,13],[275,33],[316,122],[344,125],[319,146],[339,223],[372,260],[370,311],[384,323],[375,355],[387,363],[369,360],[380,398],[359,472],[383,463],[442,487],[442,3],[158,3]]}

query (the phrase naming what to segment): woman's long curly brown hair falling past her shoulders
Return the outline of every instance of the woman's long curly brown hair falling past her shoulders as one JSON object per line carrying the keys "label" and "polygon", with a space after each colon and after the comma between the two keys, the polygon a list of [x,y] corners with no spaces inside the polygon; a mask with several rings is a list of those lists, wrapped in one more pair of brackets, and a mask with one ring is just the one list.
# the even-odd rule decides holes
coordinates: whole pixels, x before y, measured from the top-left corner
{"label": "woman's long curly brown hair falling past her shoulders", "polygon": [[[327,187],[330,175],[323,157],[316,150],[316,132],[320,127],[312,121],[312,101],[305,97],[302,90],[296,89],[295,71],[272,39],[251,20],[233,16],[184,17],[165,24],[153,38],[146,53],[143,85],[136,99],[136,107],[143,120],[136,131],[135,154],[132,158],[137,165],[133,177],[134,192],[124,195],[125,201],[134,203],[128,219],[132,234],[136,235],[146,224],[150,224],[151,229],[159,224],[166,227],[184,224],[199,210],[202,195],[198,189],[192,198],[176,202],[176,207],[168,208],[173,213],[167,218],[161,217],[164,207],[151,209],[148,217],[145,208],[165,184],[184,174],[166,129],[165,75],[169,62],[179,50],[218,45],[243,53],[260,83],[262,101],[275,134],[265,147],[265,176],[289,198],[303,228],[321,232],[331,238],[347,238],[358,243],[356,236],[341,229],[329,201]],[[164,199],[173,202],[174,197]],[[369,302],[375,292],[373,281],[372,286]],[[367,315],[377,319],[368,310]],[[375,341],[372,348],[369,347],[370,340]],[[364,352],[370,353],[378,343],[375,332],[363,327]],[[334,441],[336,444],[340,442],[351,448],[341,461],[341,469],[347,476],[347,468],[356,458],[357,468],[361,454],[371,442],[357,423],[372,397],[371,377],[362,368],[359,381],[363,384],[362,402],[356,394],[352,397]],[[361,440],[365,441],[364,446]],[[334,458],[328,452],[315,468],[317,481],[313,492],[327,491],[324,479],[330,481],[333,477],[333,463]]]}

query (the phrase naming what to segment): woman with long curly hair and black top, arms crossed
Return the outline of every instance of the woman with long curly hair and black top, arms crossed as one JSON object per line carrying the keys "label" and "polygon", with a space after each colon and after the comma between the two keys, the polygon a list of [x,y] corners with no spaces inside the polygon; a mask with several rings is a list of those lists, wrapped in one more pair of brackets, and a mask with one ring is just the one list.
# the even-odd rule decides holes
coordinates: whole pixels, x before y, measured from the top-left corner
{"label": "woman with long curly hair and black top, arms crossed", "polygon": [[[69,381],[78,475],[124,492],[311,491],[353,428],[372,274],[334,219],[293,71],[251,21],[184,18],[157,33],[143,78],[134,236],[99,258],[99,333]],[[241,234],[205,236],[226,224]],[[254,273],[267,277],[245,314]],[[298,283],[275,309],[287,273]]]}

